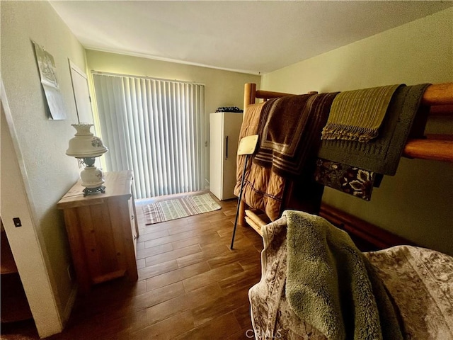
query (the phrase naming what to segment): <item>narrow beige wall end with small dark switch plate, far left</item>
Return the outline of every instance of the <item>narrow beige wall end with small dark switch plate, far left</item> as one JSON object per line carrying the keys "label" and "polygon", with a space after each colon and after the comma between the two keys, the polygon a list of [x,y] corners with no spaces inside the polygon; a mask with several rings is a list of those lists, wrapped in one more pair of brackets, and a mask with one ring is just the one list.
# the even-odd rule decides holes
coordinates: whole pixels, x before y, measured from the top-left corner
{"label": "narrow beige wall end with small dark switch plate, far left", "polygon": [[[4,109],[4,106],[6,109]],[[6,113],[5,113],[6,111]],[[6,221],[5,231],[14,260],[33,312],[39,334],[51,335],[62,329],[62,318],[57,299],[47,273],[45,255],[41,249],[33,217],[27,211],[28,187],[23,182],[23,162],[16,154],[6,116],[11,117],[4,96],[1,98],[1,218]],[[22,168],[22,169],[21,169]],[[20,217],[22,227],[9,221]]]}

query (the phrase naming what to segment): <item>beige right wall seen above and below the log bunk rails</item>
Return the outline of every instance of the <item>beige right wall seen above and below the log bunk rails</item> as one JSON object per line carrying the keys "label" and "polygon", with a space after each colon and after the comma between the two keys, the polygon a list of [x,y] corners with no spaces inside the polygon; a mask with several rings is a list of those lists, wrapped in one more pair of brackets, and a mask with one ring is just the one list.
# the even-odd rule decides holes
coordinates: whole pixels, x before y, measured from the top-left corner
{"label": "beige right wall seen above and below the log bunk rails", "polygon": [[[262,89],[345,91],[453,81],[453,8],[265,74]],[[431,120],[430,132],[453,132]],[[324,202],[422,246],[453,255],[453,165],[401,159],[368,203],[326,188]]]}

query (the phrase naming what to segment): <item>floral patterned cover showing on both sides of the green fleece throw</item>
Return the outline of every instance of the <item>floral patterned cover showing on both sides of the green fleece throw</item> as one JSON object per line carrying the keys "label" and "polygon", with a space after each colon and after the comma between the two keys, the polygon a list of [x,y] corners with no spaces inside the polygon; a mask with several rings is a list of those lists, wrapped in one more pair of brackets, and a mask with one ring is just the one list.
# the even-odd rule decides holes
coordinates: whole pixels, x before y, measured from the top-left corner
{"label": "floral patterned cover showing on both sides of the green fleece throw", "polygon": [[[262,228],[260,282],[248,292],[257,340],[326,340],[297,317],[285,297],[286,222]],[[453,258],[415,246],[365,253],[401,315],[404,339],[453,339]]]}

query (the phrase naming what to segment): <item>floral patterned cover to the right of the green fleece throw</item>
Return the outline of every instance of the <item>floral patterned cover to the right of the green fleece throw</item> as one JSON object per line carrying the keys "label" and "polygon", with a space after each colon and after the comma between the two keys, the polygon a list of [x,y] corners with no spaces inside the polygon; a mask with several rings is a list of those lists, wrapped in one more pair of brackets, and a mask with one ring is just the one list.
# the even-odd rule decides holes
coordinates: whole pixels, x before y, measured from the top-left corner
{"label": "floral patterned cover to the right of the green fleece throw", "polygon": [[365,253],[398,306],[405,339],[453,339],[453,257],[415,246]]}

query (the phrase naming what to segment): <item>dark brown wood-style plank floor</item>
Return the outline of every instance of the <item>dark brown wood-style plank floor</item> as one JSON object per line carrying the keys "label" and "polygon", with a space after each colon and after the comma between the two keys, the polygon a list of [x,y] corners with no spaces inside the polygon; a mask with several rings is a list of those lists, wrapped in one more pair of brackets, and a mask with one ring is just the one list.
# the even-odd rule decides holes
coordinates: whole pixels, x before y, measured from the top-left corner
{"label": "dark brown wood-style plank floor", "polygon": [[[49,339],[250,339],[248,289],[260,280],[261,237],[238,227],[236,200],[221,210],[144,225],[137,200],[139,280],[96,285],[77,297],[61,334]],[[248,331],[248,332],[247,332]],[[38,339],[2,327],[1,339]]]}

